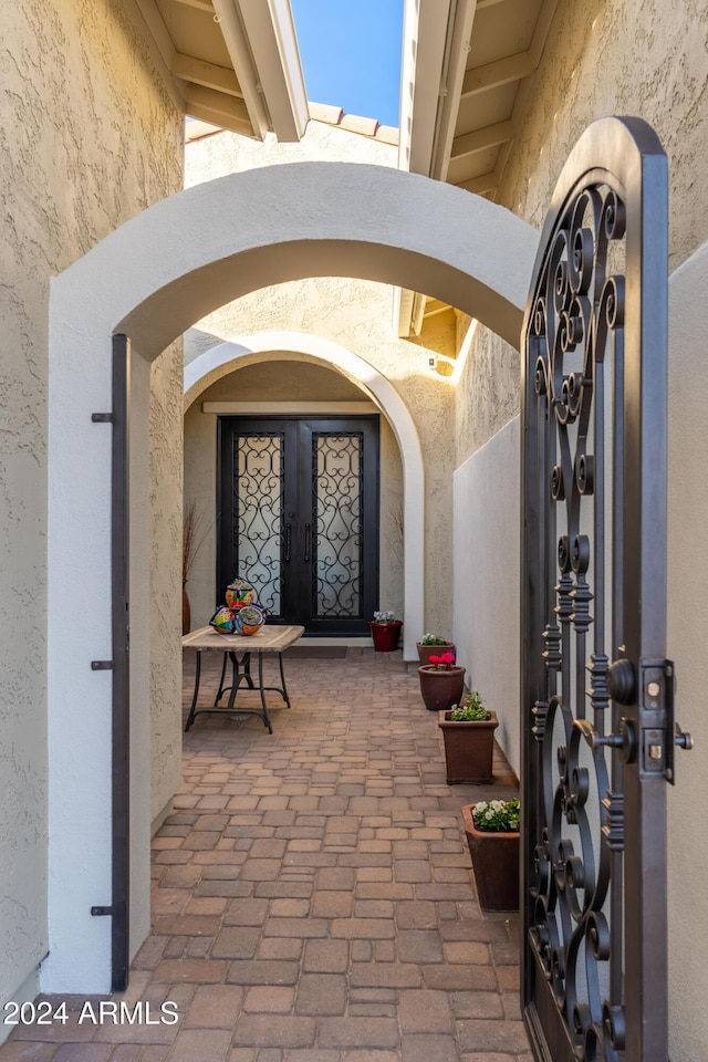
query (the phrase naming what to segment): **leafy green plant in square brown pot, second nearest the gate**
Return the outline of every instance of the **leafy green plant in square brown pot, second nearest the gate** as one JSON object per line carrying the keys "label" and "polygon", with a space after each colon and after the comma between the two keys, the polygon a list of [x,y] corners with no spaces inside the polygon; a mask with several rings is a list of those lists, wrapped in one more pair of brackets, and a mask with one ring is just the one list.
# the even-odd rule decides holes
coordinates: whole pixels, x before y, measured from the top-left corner
{"label": "leafy green plant in square brown pot, second nearest the gate", "polygon": [[496,712],[485,708],[473,689],[462,704],[438,712],[445,743],[448,785],[481,785],[493,782]]}

